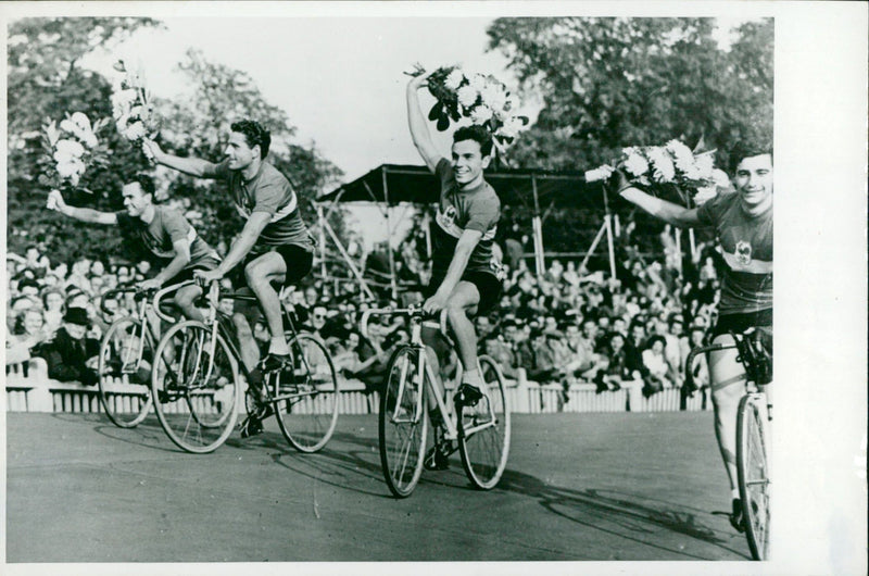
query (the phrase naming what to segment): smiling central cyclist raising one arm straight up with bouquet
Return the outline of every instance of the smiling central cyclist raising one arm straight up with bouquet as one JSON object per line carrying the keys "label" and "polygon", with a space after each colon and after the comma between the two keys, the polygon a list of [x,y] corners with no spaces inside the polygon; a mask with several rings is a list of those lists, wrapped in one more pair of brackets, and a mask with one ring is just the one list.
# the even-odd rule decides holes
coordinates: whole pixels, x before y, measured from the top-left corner
{"label": "smiling central cyclist raising one arm straight up with bouquet", "polygon": [[[501,293],[502,266],[492,252],[501,201],[483,178],[483,170],[491,162],[492,136],[480,126],[458,128],[453,135],[451,160],[443,158],[419,105],[418,90],[427,77],[412,78],[406,90],[411,138],[440,179],[440,201],[431,224],[431,281],[423,309],[428,313],[446,310],[464,367],[457,400],[475,405],[482,398],[482,377],[477,365],[477,335],[469,317],[487,313]],[[437,455],[438,447],[434,458],[442,468],[446,458]]]}

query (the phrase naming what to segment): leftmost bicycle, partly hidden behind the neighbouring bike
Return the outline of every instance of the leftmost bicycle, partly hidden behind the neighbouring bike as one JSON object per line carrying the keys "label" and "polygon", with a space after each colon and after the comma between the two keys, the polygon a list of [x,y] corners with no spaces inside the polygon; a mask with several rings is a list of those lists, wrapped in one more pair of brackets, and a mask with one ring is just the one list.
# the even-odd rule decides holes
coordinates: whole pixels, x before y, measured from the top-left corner
{"label": "leftmost bicycle, partly hidden behind the neighbouring bike", "polygon": [[[114,314],[114,311],[105,308],[105,301],[116,295],[134,292],[134,302],[139,301],[133,314],[112,322],[100,342],[97,368],[100,403],[115,426],[134,428],[148,415],[152,405],[148,384],[151,379],[154,342],[158,340],[154,327],[148,321],[148,312],[160,308],[160,298],[187,284],[190,283],[175,284],[160,290],[141,290],[135,285],[125,285],[102,296],[100,309],[104,317]],[[166,314],[160,317],[169,322],[176,320]]]}

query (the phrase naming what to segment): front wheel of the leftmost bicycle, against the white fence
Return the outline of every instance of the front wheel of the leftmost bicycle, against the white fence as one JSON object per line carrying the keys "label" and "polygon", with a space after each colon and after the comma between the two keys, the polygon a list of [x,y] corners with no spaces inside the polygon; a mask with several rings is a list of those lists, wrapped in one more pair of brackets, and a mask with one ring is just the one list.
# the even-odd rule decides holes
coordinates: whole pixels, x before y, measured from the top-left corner
{"label": "front wheel of the leftmost bicycle, against the white fence", "polygon": [[151,330],[133,316],[118,318],[105,331],[98,363],[100,403],[115,426],[133,428],[151,409]]}

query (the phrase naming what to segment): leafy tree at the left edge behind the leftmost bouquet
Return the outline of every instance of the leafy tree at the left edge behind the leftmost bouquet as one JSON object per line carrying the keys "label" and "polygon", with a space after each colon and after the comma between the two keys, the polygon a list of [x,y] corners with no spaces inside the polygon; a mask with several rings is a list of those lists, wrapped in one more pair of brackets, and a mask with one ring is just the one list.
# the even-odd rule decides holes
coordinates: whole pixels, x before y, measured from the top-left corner
{"label": "leafy tree at the left edge behind the leftmost bouquet", "polygon": [[[8,229],[26,235],[8,237],[9,249],[43,243],[52,256],[67,260],[76,252],[90,255],[117,250],[112,230],[95,228],[45,210],[48,190],[37,183],[38,160],[43,153],[41,128],[48,118],[64,112],[84,112],[91,120],[111,116],[112,87],[99,74],[84,70],[81,58],[99,47],[111,47],[140,27],[159,26],[151,18],[22,18],[9,28],[8,76]],[[74,195],[67,200],[101,209],[119,208],[121,180],[143,167],[140,154],[118,146],[110,125],[101,135],[115,153],[108,166],[86,174],[83,186],[95,195]]]}

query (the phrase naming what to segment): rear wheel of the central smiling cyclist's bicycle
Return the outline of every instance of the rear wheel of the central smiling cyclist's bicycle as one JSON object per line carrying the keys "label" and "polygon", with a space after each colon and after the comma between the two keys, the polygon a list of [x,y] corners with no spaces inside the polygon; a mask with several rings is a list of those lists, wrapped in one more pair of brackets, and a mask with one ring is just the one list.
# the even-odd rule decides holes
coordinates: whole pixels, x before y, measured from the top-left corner
{"label": "rear wheel of the central smiling cyclist's bicycle", "polygon": [[511,420],[504,377],[489,356],[480,356],[484,396],[476,406],[456,406],[458,451],[468,479],[481,490],[495,487],[507,466]]}

